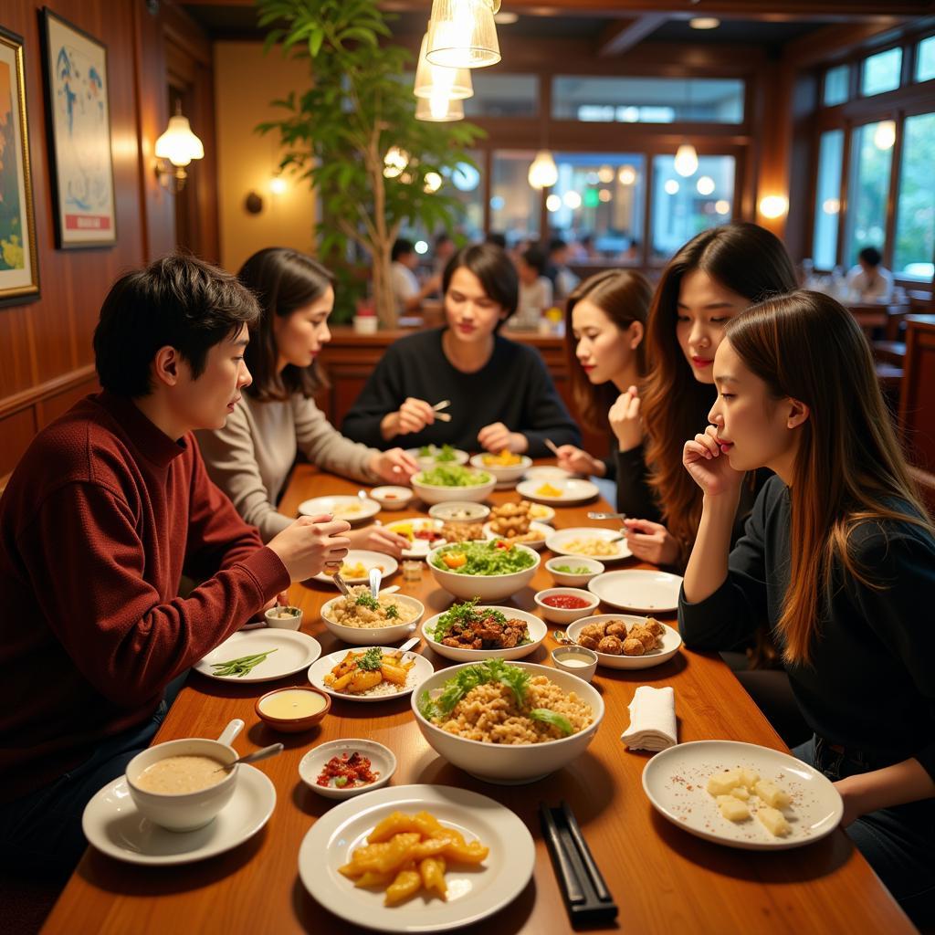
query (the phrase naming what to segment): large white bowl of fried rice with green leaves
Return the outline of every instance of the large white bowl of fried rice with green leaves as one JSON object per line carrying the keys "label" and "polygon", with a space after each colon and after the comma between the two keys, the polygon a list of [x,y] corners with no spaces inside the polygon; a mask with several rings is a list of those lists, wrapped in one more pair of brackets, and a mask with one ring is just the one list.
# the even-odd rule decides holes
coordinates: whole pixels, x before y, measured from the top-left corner
{"label": "large white bowl of fried rice with green leaves", "polygon": [[426,741],[488,783],[534,783],[582,755],[604,717],[592,685],[527,662],[441,669],[412,694]]}

